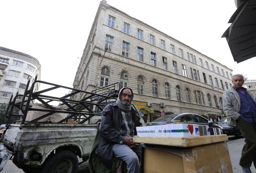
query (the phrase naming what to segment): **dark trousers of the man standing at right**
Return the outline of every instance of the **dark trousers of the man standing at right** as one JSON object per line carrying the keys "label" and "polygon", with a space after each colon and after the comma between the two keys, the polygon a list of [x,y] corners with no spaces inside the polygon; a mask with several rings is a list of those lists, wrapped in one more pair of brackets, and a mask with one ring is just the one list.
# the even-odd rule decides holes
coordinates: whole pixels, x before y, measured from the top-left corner
{"label": "dark trousers of the man standing at right", "polygon": [[254,162],[254,167],[256,168],[256,123],[252,120],[250,124],[241,117],[237,119],[237,123],[241,134],[245,138],[245,145],[242,148],[239,164],[242,167],[249,168]]}

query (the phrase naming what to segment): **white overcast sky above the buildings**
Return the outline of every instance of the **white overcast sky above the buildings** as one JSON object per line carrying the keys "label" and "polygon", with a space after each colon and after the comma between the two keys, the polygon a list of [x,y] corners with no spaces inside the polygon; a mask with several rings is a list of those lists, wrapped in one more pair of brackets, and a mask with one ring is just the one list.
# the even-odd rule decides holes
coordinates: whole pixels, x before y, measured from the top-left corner
{"label": "white overcast sky above the buildings", "polygon": [[[73,81],[100,0],[1,0],[0,46],[33,56],[41,80]],[[225,38],[234,0],[107,0],[107,4],[256,79],[255,58],[237,64]]]}

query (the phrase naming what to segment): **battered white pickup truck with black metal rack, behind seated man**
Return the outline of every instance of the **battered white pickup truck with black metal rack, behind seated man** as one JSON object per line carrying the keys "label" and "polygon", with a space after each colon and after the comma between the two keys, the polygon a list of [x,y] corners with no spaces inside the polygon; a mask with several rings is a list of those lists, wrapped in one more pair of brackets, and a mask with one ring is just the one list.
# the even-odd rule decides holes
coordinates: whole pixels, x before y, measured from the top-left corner
{"label": "battered white pickup truck with black metal rack, behind seated man", "polygon": [[[11,159],[26,173],[76,172],[78,157],[88,160],[101,111],[117,99],[120,84],[87,92],[39,80],[28,89],[29,82],[24,94],[12,96],[7,107],[6,130],[0,141],[0,171]],[[37,82],[46,89],[34,92]],[[54,97],[59,89],[70,92]],[[59,104],[53,106],[55,103]],[[14,113],[15,107],[21,115]],[[20,120],[10,123],[11,117]],[[142,117],[141,121],[145,124]]]}

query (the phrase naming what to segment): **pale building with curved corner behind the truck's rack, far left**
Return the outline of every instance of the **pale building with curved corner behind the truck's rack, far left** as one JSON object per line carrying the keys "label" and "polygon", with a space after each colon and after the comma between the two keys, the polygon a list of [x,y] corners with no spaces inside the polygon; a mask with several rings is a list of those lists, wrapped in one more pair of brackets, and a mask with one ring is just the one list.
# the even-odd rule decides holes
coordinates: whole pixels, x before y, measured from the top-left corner
{"label": "pale building with curved corner behind the truck's rack, far left", "polygon": [[[0,103],[9,103],[11,94],[23,94],[27,81],[38,76],[40,80],[41,65],[28,54],[0,47]],[[32,82],[30,83],[31,86]],[[36,85],[37,91],[39,84]]]}

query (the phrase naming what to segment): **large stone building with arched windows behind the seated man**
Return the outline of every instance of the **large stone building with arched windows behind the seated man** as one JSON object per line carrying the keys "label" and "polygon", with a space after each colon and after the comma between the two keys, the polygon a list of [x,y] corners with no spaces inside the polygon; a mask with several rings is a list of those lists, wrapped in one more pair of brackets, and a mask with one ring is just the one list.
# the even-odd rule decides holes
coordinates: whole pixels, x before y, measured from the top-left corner
{"label": "large stone building with arched windows behind the seated man", "polygon": [[185,112],[215,121],[231,79],[225,65],[102,0],[73,86],[91,91],[120,82],[132,88],[147,122]]}

